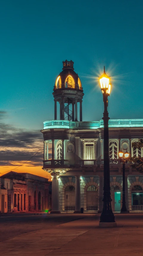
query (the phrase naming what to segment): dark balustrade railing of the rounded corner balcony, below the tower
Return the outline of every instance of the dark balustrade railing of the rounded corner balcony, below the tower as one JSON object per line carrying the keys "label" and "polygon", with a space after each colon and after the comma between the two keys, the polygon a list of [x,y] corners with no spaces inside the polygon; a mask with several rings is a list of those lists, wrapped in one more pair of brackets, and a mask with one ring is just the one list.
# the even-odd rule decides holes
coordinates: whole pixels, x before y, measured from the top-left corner
{"label": "dark balustrade railing of the rounded corner balcony, below the tower", "polygon": [[51,160],[44,160],[43,161],[43,167],[61,167],[61,166],[66,166],[69,167],[70,166],[70,160],[57,160],[57,159],[51,159]]}

